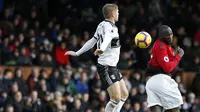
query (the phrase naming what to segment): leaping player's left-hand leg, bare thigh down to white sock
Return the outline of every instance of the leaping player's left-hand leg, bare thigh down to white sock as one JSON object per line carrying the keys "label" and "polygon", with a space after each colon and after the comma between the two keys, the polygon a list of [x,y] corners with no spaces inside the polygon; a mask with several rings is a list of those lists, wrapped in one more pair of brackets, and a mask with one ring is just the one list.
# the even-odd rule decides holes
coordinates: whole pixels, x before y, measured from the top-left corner
{"label": "leaping player's left-hand leg, bare thigh down to white sock", "polygon": [[110,85],[107,91],[110,96],[110,101],[106,105],[105,112],[115,112],[114,109],[121,100],[119,81]]}

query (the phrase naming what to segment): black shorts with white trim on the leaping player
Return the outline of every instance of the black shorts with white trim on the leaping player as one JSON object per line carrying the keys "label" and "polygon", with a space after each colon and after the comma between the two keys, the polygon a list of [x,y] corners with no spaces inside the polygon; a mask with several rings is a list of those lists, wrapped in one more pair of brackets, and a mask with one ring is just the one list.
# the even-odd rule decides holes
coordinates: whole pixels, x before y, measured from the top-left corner
{"label": "black shorts with white trim on the leaping player", "polygon": [[117,67],[97,64],[97,70],[102,84],[106,86],[106,88],[122,79],[122,74]]}

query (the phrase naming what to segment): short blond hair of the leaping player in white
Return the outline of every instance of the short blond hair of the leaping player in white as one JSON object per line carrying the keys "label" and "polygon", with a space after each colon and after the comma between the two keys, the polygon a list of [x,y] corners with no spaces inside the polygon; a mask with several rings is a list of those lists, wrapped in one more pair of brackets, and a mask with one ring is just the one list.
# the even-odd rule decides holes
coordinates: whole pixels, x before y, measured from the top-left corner
{"label": "short blond hair of the leaping player in white", "polygon": [[116,4],[106,4],[102,8],[102,13],[105,19],[110,18],[112,11],[117,10],[118,6]]}

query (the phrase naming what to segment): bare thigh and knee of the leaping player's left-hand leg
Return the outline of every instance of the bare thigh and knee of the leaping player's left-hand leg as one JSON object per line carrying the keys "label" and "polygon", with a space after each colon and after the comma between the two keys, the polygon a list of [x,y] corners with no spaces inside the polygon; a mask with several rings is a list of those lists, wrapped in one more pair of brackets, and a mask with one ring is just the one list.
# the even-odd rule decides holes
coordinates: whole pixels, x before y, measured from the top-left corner
{"label": "bare thigh and knee of the leaping player's left-hand leg", "polygon": [[120,91],[119,81],[110,85],[107,88],[107,91],[112,100],[114,100],[116,102],[119,102],[121,100],[121,91]]}

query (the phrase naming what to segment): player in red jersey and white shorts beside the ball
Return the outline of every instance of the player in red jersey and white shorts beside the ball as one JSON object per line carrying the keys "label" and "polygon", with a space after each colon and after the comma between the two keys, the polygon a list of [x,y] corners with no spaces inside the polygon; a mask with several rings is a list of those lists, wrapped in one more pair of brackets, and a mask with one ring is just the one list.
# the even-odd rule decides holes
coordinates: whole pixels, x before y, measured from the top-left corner
{"label": "player in red jersey and white shorts beside the ball", "polygon": [[179,112],[183,103],[178,84],[171,78],[184,51],[172,48],[173,32],[167,25],[159,28],[159,39],[153,45],[152,58],[148,62],[146,73],[152,77],[146,83],[147,103],[151,112]]}

